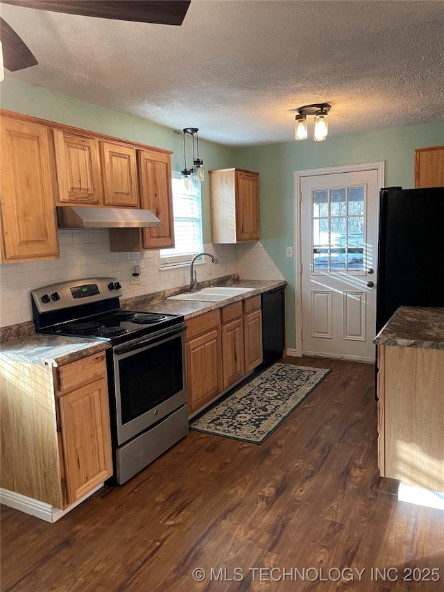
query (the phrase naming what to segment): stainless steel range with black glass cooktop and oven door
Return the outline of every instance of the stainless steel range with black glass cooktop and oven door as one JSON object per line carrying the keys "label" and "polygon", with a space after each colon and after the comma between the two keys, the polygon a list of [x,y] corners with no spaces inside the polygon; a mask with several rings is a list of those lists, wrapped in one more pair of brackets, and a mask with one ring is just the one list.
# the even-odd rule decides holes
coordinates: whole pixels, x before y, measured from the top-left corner
{"label": "stainless steel range with black glass cooktop and oven door", "polygon": [[110,341],[106,351],[118,484],[188,433],[183,316],[122,310],[117,278],[31,292],[37,332]]}

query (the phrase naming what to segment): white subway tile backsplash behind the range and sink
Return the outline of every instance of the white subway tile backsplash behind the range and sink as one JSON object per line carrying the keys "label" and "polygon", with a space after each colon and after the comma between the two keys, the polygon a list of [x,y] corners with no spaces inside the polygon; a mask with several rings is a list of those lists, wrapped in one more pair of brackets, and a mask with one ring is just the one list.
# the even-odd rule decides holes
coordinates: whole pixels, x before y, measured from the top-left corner
{"label": "white subway tile backsplash behind the range and sink", "polygon": [[[31,321],[29,292],[37,287],[76,278],[116,277],[123,298],[187,285],[189,267],[160,270],[160,252],[111,253],[108,230],[59,230],[60,259],[0,265],[0,326]],[[239,273],[242,279],[283,279],[262,245],[205,244],[219,265],[205,257],[196,265],[198,281]],[[139,286],[130,285],[131,268],[141,267]]]}

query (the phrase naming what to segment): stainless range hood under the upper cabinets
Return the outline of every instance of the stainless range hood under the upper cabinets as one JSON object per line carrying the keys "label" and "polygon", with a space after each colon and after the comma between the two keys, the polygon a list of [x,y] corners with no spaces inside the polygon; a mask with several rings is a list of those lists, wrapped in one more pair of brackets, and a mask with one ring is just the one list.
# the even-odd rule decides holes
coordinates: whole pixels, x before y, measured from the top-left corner
{"label": "stainless range hood under the upper cabinets", "polygon": [[59,228],[156,228],[160,219],[150,210],[58,206]]}

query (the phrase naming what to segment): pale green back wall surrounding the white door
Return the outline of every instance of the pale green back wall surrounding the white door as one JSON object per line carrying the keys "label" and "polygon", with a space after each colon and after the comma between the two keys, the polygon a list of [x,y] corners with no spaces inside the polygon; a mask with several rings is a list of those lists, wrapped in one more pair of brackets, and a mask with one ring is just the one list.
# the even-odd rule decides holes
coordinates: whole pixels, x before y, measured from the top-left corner
{"label": "pale green back wall surrounding the white door", "polygon": [[[333,115],[331,117],[334,117]],[[289,121],[291,126],[291,121]],[[287,345],[296,344],[293,259],[285,247],[294,243],[294,171],[384,160],[385,185],[414,185],[416,148],[444,144],[444,121],[347,136],[325,142],[287,142],[234,150],[237,167],[259,171],[261,242],[289,282]],[[298,253],[294,253],[295,257]]]}

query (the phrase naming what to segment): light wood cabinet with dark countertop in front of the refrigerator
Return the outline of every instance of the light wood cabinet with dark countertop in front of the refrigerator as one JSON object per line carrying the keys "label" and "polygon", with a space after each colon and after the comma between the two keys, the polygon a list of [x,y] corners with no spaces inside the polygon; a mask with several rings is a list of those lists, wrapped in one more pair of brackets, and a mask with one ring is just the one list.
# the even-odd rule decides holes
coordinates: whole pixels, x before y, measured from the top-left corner
{"label": "light wood cabinet with dark countertop in front of the refrigerator", "polygon": [[381,476],[444,492],[444,308],[400,307],[375,343]]}

